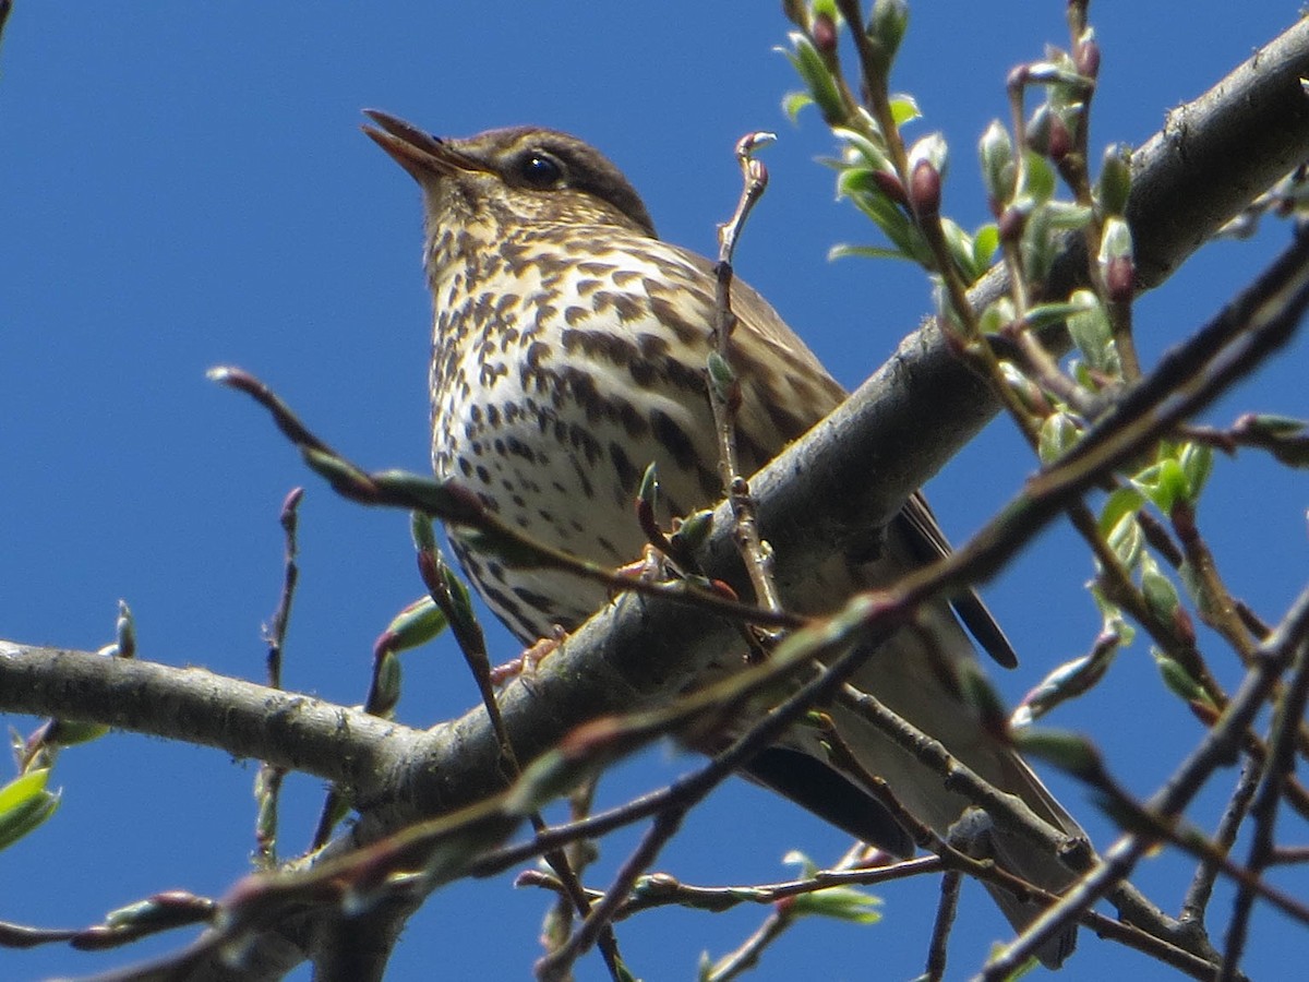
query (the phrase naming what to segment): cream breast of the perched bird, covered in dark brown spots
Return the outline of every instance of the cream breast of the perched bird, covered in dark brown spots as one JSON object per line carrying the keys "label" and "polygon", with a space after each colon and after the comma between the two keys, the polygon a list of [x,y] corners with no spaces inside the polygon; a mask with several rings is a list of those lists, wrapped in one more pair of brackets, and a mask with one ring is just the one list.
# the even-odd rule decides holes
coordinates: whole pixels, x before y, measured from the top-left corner
{"label": "cream breast of the perched bird, covered in dark brown spots", "polygon": [[[524,230],[500,247],[503,262],[474,259],[433,283],[445,302],[435,319],[432,454],[439,475],[469,484],[501,518],[618,564],[644,545],[634,496],[649,464],[660,467],[664,521],[716,500],[721,479],[704,382],[711,301],[670,247],[607,238]],[[669,288],[672,272],[685,291]],[[653,280],[665,284],[658,296]],[[575,577],[479,556],[470,542],[458,549],[524,638],[573,627],[605,602]]]}

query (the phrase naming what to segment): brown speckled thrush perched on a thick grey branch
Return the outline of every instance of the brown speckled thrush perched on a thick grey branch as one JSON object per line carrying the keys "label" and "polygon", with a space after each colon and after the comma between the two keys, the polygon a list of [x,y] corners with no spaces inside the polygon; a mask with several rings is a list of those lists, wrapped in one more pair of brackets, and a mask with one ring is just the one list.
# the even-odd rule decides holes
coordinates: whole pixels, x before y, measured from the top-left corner
{"label": "brown speckled thrush perched on a thick grey branch", "polygon": [[[378,110],[365,114],[373,124],[364,132],[423,192],[436,475],[463,484],[537,541],[614,567],[647,545],[634,501],[649,464],[657,466],[664,520],[719,501],[724,479],[706,380],[715,263],[658,238],[628,179],[579,137],[520,126],[449,139]],[[847,393],[741,280],[733,283],[732,308],[737,444],[741,470],[750,474]],[[469,579],[524,644],[572,631],[609,601],[594,583],[514,564],[458,528],[449,532]],[[784,601],[801,614],[831,613],[855,592],[948,551],[919,492],[872,547],[834,556]],[[927,605],[916,630],[889,638],[852,683],[1055,829],[1084,837],[952,685],[949,669],[975,660],[956,611],[997,661],[1016,664],[1004,632],[967,592],[953,609],[946,601]],[[946,835],[970,803],[857,715],[839,706],[830,712],[860,763]],[[872,846],[897,856],[914,851],[907,830],[800,728],[746,771]],[[1076,880],[1052,852],[1012,833],[995,829],[992,846],[1000,865],[1041,888],[1059,892]],[[1042,910],[1000,888],[988,890],[1020,930]],[[1069,927],[1038,955],[1058,966],[1075,943]]]}

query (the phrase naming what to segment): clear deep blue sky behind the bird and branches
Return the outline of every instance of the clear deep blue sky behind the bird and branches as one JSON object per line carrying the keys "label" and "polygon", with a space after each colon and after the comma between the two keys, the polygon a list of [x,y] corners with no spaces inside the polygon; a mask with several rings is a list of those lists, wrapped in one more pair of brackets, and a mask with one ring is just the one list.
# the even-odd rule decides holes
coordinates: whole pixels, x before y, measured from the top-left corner
{"label": "clear deep blue sky behind the bird and branches", "polygon": [[[775,5],[90,9],[18,0],[0,50],[0,636],[94,649],[111,640],[122,597],[136,613],[141,657],[260,678],[259,627],[280,580],[278,508],[305,483],[287,685],[346,703],[363,698],[372,640],[420,592],[407,516],[336,500],[259,411],[204,372],[255,372],[368,466],[427,467],[429,301],[418,192],[359,132],[364,106],[456,135],[529,122],[577,132],[627,172],[665,238],[700,251],[713,247],[715,223],[736,200],[734,140],[775,130],[779,143],[766,152],[772,183],[738,251],[740,275],[851,386],[928,310],[915,270],[825,259],[831,244],[873,232],[834,202],[830,173],[813,162],[830,149],[817,114],[796,127],[780,113],[797,82],[771,50],[788,26]],[[1170,106],[1289,25],[1296,5],[1196,0],[1185,18],[1173,4],[1092,13],[1103,47],[1092,132],[1100,147],[1144,140]],[[914,10],[894,82],[918,97],[919,131],[950,140],[945,207],[965,225],[986,217],[977,137],[1005,115],[1005,72],[1039,56],[1046,41],[1066,43],[1063,4]],[[1212,245],[1144,299],[1145,357],[1211,316],[1285,237],[1270,228],[1251,242]],[[1212,419],[1246,409],[1309,415],[1306,354],[1299,342]],[[929,484],[950,536],[977,528],[1031,467],[1012,427],[992,424]],[[1210,518],[1204,532],[1233,589],[1268,618],[1302,587],[1304,508],[1301,478],[1255,454],[1219,462],[1202,524]],[[987,589],[1024,659],[997,680],[1009,698],[1089,647],[1098,627],[1081,588],[1089,573],[1084,551],[1054,530]],[[516,653],[508,635],[493,639],[505,659]],[[1233,682],[1230,659],[1206,640]],[[407,656],[403,720],[433,723],[474,700],[448,643]],[[1198,738],[1190,716],[1161,694],[1140,643],[1123,652],[1109,685],[1054,721],[1111,736],[1110,763],[1141,793]],[[647,753],[606,782],[606,795],[619,800],[690,765],[668,749]],[[158,889],[221,893],[247,869],[254,770],[128,735],[64,754],[60,813],[0,855],[0,919],[92,923]],[[1194,817],[1203,825],[1233,779],[1220,776],[1202,796]],[[1051,783],[1106,845],[1111,829],[1083,792]],[[284,850],[308,837],[319,796],[313,779],[291,783]],[[631,841],[617,837],[607,860]],[[776,880],[791,873],[780,858],[792,847],[829,862],[844,842],[734,782],[691,817],[660,868],[689,882]],[[1175,909],[1187,869],[1164,854],[1136,879]],[[1300,886],[1304,896],[1302,871]],[[880,926],[802,924],[758,977],[916,974],[936,882],[882,896]],[[1228,896],[1220,890],[1216,917]],[[1004,936],[980,890],[969,889],[965,905],[956,974]],[[524,977],[542,909],[541,896],[514,892],[509,877],[452,888],[412,922],[393,977]],[[623,926],[620,940],[643,977],[687,978],[702,949],[724,953],[761,917],[656,911]],[[1257,918],[1255,948],[1275,941],[1283,958],[1296,948],[1309,955],[1306,939],[1279,915]],[[0,974],[89,973],[182,940],[128,955],[5,952]],[[1083,947],[1066,977],[1141,977],[1134,956],[1089,936]],[[1278,974],[1259,965],[1257,953],[1251,974]],[[598,977],[594,957],[580,965],[579,978]]]}

